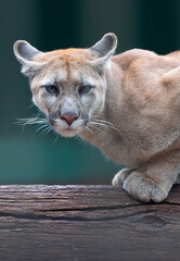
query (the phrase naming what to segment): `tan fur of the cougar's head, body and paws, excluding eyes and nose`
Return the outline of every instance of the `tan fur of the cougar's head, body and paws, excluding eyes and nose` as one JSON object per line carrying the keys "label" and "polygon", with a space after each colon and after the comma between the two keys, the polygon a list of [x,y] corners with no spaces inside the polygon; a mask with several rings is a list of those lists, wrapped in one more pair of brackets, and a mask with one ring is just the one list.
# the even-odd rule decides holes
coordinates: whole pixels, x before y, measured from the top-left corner
{"label": "tan fur of the cougar's head, body and paws, excluding eyes and nose", "polygon": [[[124,184],[139,200],[160,202],[180,172],[180,52],[157,55],[133,49],[111,58],[116,38],[106,36],[112,39],[91,49],[40,52],[33,57],[33,65],[21,62],[34,74],[35,103],[48,116],[55,115],[56,132],[64,136],[79,134],[127,165],[129,169],[116,174],[113,185]],[[59,98],[44,98],[48,95],[41,83],[46,78],[61,88]],[[77,88],[83,80],[95,88],[79,98]],[[78,108],[81,115],[89,116],[89,123],[86,125],[80,116],[72,124],[73,130],[67,128],[55,114],[62,108]]]}

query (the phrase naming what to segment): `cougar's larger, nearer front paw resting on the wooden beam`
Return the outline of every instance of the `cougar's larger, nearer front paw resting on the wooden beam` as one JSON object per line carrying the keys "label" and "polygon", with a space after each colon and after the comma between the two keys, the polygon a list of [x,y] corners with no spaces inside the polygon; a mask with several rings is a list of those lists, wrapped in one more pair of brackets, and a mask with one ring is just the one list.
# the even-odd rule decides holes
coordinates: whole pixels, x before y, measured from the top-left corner
{"label": "cougar's larger, nearer front paw resting on the wooden beam", "polygon": [[168,191],[163,185],[157,184],[151,177],[140,172],[132,172],[124,183],[124,189],[130,196],[143,202],[153,200],[162,202],[168,196]]}

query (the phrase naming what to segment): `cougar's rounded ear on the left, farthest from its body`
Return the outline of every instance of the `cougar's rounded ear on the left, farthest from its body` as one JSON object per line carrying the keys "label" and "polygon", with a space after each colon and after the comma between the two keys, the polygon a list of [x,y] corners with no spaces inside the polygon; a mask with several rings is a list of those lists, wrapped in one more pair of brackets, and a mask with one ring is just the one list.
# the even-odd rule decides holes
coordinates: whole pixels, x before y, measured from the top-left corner
{"label": "cougar's rounded ear on the left, farthest from its body", "polygon": [[22,73],[27,76],[33,76],[39,65],[38,62],[34,61],[34,57],[38,53],[41,53],[41,51],[37,50],[25,40],[15,41],[13,49],[15,57],[23,65]]}

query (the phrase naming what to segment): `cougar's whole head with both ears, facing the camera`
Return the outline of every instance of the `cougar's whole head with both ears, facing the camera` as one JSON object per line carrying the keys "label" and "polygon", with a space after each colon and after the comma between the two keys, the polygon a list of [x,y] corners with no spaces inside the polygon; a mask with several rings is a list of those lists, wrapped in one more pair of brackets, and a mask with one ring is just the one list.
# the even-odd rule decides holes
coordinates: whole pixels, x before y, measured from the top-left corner
{"label": "cougar's whole head with both ears, facing the camera", "polygon": [[57,133],[80,134],[102,112],[105,71],[116,46],[114,34],[106,34],[89,49],[41,52],[24,40],[14,44],[22,73],[30,79],[33,101]]}

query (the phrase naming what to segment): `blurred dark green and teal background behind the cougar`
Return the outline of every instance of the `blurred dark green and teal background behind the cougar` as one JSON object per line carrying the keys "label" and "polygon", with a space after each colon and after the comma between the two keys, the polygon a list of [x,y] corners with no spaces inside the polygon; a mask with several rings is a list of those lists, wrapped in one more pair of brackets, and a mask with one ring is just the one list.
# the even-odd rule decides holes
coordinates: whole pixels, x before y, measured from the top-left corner
{"label": "blurred dark green and teal background behind the cougar", "polygon": [[131,48],[180,49],[180,0],[0,0],[0,184],[111,184],[119,165],[78,139],[24,132],[15,122],[37,113],[12,46],[42,51],[90,47],[104,34]]}

